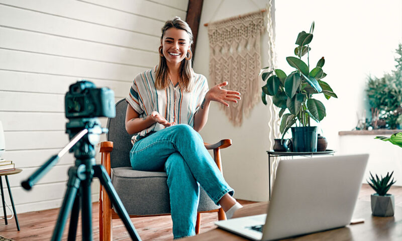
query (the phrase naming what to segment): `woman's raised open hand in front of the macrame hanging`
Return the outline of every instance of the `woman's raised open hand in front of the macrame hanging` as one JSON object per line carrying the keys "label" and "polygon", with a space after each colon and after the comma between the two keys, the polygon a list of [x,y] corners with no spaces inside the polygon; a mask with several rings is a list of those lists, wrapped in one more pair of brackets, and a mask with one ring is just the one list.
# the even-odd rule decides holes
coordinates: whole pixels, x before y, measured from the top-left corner
{"label": "woman's raised open hand in front of the macrame hanging", "polygon": [[205,95],[205,98],[207,101],[218,101],[222,103],[223,105],[229,106],[229,104],[225,101],[231,101],[234,103],[237,103],[238,99],[240,98],[240,93],[234,90],[227,90],[223,89],[222,87],[228,85],[229,83],[227,81],[217,84],[214,87],[212,87],[207,94]]}

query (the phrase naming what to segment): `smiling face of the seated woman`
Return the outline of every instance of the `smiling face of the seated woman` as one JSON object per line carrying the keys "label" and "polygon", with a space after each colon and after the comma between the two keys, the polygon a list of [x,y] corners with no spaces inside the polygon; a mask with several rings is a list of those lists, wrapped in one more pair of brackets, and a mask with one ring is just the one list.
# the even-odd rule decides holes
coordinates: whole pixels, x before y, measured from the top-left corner
{"label": "smiling face of the seated woman", "polygon": [[171,64],[180,63],[190,48],[190,37],[182,29],[170,28],[165,31],[162,39],[163,55]]}

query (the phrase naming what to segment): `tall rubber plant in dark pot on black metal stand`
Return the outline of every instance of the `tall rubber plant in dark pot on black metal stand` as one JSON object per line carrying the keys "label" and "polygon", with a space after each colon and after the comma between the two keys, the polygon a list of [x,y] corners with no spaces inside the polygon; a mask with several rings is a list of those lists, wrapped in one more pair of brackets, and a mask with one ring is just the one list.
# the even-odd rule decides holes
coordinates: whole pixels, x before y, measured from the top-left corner
{"label": "tall rubber plant in dark pot on black metal stand", "polygon": [[[283,139],[284,134],[291,128],[294,152],[317,151],[317,127],[311,126],[310,118],[319,123],[326,116],[326,110],[320,100],[313,98],[313,94],[323,93],[327,99],[337,98],[330,85],[322,80],[327,76],[323,71],[324,57],[310,70],[310,43],[313,31],[314,22],[309,33],[302,31],[297,35],[297,47],[294,49],[297,57],[286,58],[287,63],[295,68],[293,72],[286,75],[280,69],[272,68],[273,70],[269,71],[270,67],[265,67],[261,75],[262,80],[266,81],[262,87],[262,102],[267,104],[266,95],[270,95],[273,104],[281,108],[279,130]],[[307,64],[302,60],[306,54]],[[293,125],[296,127],[292,127]]]}

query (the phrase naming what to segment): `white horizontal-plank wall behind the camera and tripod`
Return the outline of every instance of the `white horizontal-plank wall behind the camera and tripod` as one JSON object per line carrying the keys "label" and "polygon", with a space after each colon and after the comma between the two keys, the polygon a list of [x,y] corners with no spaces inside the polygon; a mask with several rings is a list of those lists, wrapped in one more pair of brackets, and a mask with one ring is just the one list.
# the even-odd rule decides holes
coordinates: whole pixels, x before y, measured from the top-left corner
{"label": "white horizontal-plank wall behind the camera and tripod", "polygon": [[[4,158],[23,169],[9,177],[18,213],[61,205],[67,170],[74,161],[71,154],[30,192],[20,183],[68,143],[68,86],[83,78],[112,88],[116,100],[124,98],[134,76],[157,64],[163,23],[174,16],[185,19],[187,4],[188,0],[0,0],[0,121]],[[102,123],[105,126],[106,119]],[[93,201],[98,185],[94,180]]]}

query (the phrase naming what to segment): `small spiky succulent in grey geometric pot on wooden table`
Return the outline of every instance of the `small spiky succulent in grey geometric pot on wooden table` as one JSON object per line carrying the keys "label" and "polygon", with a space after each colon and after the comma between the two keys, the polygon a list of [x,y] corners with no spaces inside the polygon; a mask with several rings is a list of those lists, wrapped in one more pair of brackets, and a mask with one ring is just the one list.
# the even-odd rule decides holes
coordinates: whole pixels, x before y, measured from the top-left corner
{"label": "small spiky succulent in grey geometric pot on wooden table", "polygon": [[370,181],[367,181],[368,185],[370,185],[376,193],[371,194],[371,212],[374,216],[380,217],[389,217],[393,216],[395,210],[395,198],[392,194],[387,194],[389,188],[395,183],[395,181],[391,180],[393,172],[386,174],[385,177],[378,178],[378,175],[375,175],[375,178],[370,172]]}

